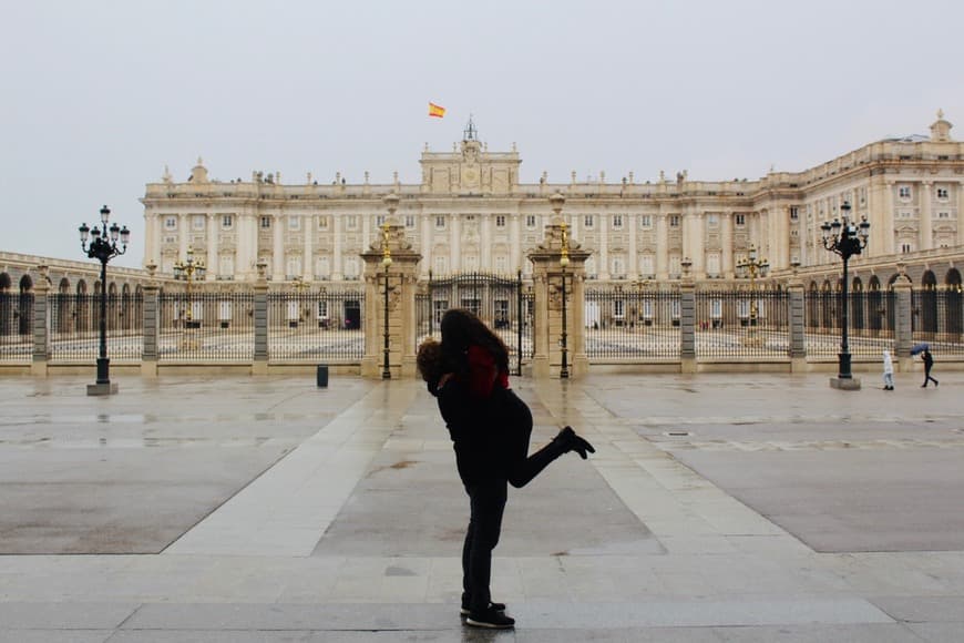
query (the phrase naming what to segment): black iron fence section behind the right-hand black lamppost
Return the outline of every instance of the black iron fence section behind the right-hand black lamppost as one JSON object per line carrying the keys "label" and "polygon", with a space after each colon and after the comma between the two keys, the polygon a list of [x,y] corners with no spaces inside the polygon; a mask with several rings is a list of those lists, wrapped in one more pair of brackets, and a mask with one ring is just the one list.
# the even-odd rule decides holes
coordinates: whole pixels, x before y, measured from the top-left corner
{"label": "black iron fence section behind the right-hand black lamppost", "polygon": [[[808,290],[803,298],[804,341],[808,357],[835,357],[840,353],[841,293]],[[892,350],[896,324],[893,290],[848,293],[848,347],[853,357],[879,359]]]}

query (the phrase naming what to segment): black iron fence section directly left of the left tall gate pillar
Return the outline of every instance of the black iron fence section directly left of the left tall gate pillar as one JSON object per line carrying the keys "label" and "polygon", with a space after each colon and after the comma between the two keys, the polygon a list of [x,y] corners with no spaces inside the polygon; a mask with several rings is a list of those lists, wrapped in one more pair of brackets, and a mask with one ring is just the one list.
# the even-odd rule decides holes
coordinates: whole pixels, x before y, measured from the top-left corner
{"label": "black iron fence section directly left of the left tall gate pillar", "polygon": [[271,361],[357,363],[365,356],[361,290],[268,294]]}

